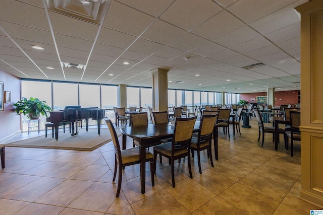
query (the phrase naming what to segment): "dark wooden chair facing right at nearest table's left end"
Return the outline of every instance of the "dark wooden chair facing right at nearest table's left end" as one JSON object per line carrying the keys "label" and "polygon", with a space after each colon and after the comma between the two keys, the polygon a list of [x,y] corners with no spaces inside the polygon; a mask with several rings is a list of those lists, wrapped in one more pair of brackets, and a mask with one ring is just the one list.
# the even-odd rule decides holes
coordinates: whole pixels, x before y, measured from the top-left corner
{"label": "dark wooden chair facing right at nearest table's left end", "polygon": [[[116,130],[112,124],[112,121],[105,117],[105,123],[107,127],[109,128],[109,131],[111,133],[112,142],[115,148],[115,171],[113,175],[112,181],[116,180],[117,176],[117,170],[119,167],[119,174],[118,174],[118,189],[117,189],[117,197],[119,197],[120,190],[121,190],[121,182],[122,182],[122,170],[125,169],[126,166],[134,165],[134,164],[140,164],[140,157],[139,157],[139,147],[121,150],[120,144],[118,140],[118,136],[116,133]],[[154,170],[155,167],[153,164],[153,155],[146,150],[146,162],[150,162],[150,176],[151,176],[151,185],[154,186]]]}

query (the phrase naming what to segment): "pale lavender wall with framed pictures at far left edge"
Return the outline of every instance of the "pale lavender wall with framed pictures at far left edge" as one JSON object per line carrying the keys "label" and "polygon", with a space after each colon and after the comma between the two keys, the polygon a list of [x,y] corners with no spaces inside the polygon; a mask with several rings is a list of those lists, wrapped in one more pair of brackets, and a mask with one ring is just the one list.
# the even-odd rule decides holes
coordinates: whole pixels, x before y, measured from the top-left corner
{"label": "pale lavender wall with framed pictures at far left edge", "polygon": [[20,79],[0,68],[0,81],[4,82],[4,90],[11,92],[11,103],[4,104],[0,111],[0,142],[1,139],[20,131],[20,116],[14,112],[13,104],[20,100]]}

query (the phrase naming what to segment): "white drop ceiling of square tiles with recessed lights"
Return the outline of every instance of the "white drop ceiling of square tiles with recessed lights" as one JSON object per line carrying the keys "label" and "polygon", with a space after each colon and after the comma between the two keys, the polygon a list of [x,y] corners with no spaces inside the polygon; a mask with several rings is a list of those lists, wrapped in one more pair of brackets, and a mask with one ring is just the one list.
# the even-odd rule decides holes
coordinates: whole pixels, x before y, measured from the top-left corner
{"label": "white drop ceiling of square tiles with recessed lights", "polygon": [[47,1],[1,2],[0,68],[19,78],[151,87],[165,68],[170,89],[300,89],[294,8],[307,0],[111,0],[98,24]]}

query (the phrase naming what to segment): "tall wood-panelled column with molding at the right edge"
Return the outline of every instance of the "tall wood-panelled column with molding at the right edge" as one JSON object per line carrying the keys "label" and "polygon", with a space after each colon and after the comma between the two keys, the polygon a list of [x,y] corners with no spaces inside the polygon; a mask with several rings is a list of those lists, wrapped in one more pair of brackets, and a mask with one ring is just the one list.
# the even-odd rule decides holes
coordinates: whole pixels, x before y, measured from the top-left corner
{"label": "tall wood-panelled column with molding at the right edge", "polygon": [[299,197],[323,207],[323,1],[296,7],[301,14],[301,163]]}

